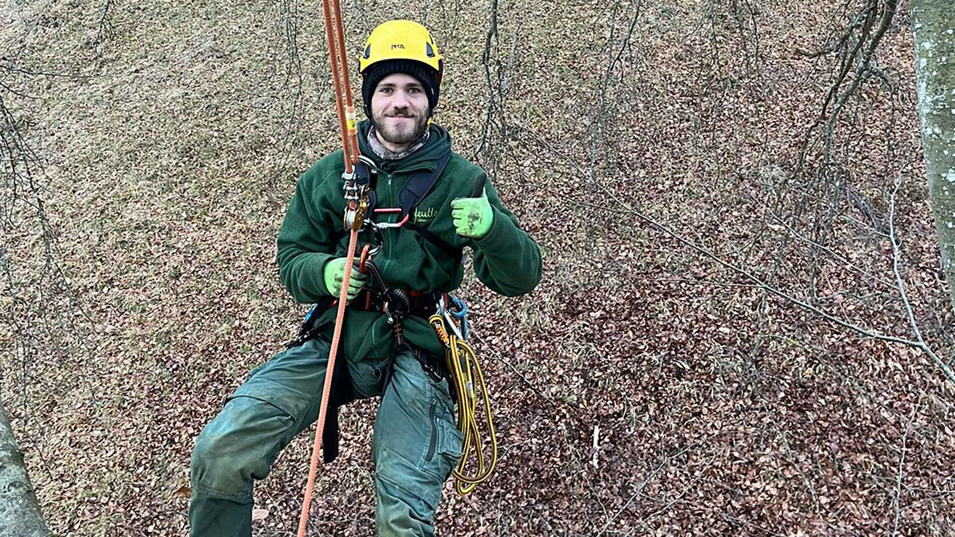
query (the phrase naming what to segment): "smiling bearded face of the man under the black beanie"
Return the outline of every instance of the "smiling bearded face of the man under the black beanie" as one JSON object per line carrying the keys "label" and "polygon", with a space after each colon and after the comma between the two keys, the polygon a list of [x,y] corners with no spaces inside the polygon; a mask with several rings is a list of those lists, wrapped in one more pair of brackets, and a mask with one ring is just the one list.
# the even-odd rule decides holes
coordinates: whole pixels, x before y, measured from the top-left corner
{"label": "smiling bearded face of the man under the black beanie", "polygon": [[404,73],[382,78],[371,94],[371,120],[386,147],[417,140],[428,122],[428,96],[421,82]]}

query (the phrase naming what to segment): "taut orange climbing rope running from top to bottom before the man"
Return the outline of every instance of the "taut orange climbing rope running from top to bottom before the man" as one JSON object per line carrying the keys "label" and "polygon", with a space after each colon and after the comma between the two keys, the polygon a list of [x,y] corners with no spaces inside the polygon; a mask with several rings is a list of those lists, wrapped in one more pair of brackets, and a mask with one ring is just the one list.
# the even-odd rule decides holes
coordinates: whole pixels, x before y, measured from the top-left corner
{"label": "taut orange climbing rope running from top to bottom before the man", "polygon": [[348,60],[345,55],[345,32],[342,27],[342,11],[338,0],[322,0],[325,11],[325,33],[329,39],[329,59],[331,64],[331,78],[335,87],[335,108],[338,111],[338,125],[342,134],[342,147],[345,150],[345,228],[350,232],[349,249],[346,254],[345,274],[342,279],[342,291],[338,296],[338,312],[335,315],[335,330],[331,337],[329,363],[325,369],[325,385],[322,387],[322,403],[318,412],[318,430],[315,432],[315,443],[312,446],[311,462],[308,467],[308,483],[305,489],[305,500],[302,503],[302,514],[299,517],[298,537],[305,537],[308,523],[308,507],[311,504],[311,494],[315,485],[315,474],[318,470],[318,455],[322,447],[322,431],[325,427],[325,416],[328,411],[329,394],[331,392],[331,377],[335,370],[335,355],[338,354],[338,341],[342,335],[342,322],[345,317],[345,306],[348,302],[351,277],[351,265],[354,263],[354,250],[358,242],[358,230],[364,219],[365,200],[359,194],[355,184],[354,166],[358,163],[358,131],[355,128],[355,110],[351,100],[351,86],[349,82]]}

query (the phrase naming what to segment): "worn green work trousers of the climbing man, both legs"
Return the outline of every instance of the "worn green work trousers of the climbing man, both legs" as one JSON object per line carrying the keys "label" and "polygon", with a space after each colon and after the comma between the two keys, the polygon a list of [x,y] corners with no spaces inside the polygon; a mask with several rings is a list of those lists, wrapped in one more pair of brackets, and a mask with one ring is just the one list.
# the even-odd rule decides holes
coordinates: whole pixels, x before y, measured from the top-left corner
{"label": "worn green work trousers of the climbing man, both legs", "polygon": [[[329,347],[316,338],[277,354],[249,374],[202,430],[191,462],[192,537],[251,535],[252,480],[264,479],[279,452],[318,419]],[[393,376],[374,419],[371,451],[375,529],[378,537],[433,537],[441,485],[461,452],[454,403],[447,380],[435,382],[405,348],[391,358],[349,360],[357,397],[380,395],[390,361]]]}

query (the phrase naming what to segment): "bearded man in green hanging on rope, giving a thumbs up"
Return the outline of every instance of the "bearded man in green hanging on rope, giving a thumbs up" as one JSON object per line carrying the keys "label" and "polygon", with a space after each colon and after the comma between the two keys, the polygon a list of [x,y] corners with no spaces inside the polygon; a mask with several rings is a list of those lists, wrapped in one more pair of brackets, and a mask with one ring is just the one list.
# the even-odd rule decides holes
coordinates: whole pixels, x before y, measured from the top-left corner
{"label": "bearded man in green hanging on rope, giving a thumbs up", "polygon": [[[474,249],[477,278],[509,296],[537,286],[541,252],[490,183],[480,197],[469,197],[483,172],[453,153],[447,131],[431,124],[442,64],[428,31],[411,21],[386,22],[371,32],[359,64],[371,118],[359,124],[359,141],[362,155],[379,170],[376,206],[397,206],[415,174],[434,177],[444,167],[408,224],[383,229],[375,245],[381,246],[373,260],[381,280],[411,296],[400,332],[383,311],[395,311],[393,295],[351,271],[344,355],[335,360],[333,392],[344,393],[336,404],[382,396],[372,440],[377,535],[430,537],[441,485],[461,455],[461,434],[448,380],[435,367],[444,362],[443,347],[427,317],[437,295],[460,285],[464,247]],[[301,177],[278,239],[286,289],[299,302],[327,310],[316,313],[307,340],[253,370],[196,440],[193,536],[250,535],[252,481],[264,479],[286,444],[318,418],[335,314],[329,302],[345,285],[343,171],[342,152],[336,151]],[[399,216],[374,219],[395,222]],[[335,415],[335,405],[329,415]],[[328,457],[336,444],[324,440]]]}

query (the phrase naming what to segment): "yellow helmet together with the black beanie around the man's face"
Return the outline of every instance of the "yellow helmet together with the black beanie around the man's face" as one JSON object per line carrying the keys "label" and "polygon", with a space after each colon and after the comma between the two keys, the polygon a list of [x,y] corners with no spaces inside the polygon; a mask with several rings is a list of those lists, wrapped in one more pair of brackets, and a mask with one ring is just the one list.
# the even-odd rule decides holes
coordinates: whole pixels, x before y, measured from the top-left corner
{"label": "yellow helmet together with the black beanie around the man's face", "polygon": [[410,20],[390,20],[375,27],[358,57],[362,75],[361,97],[365,115],[371,118],[371,97],[378,82],[393,73],[412,75],[421,82],[428,96],[428,108],[437,106],[444,61],[437,52],[431,33]]}

